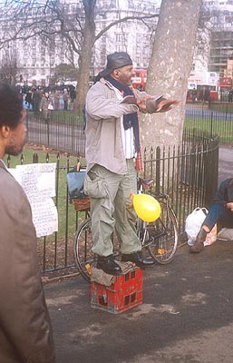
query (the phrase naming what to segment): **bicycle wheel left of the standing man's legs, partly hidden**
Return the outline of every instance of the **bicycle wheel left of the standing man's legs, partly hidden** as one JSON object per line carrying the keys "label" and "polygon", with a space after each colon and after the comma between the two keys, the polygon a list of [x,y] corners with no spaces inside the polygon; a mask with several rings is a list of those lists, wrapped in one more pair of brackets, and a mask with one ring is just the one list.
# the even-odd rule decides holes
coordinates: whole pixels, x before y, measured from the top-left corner
{"label": "bicycle wheel left of the standing man's legs, partly hidden", "polygon": [[92,219],[88,218],[80,224],[74,238],[74,258],[81,275],[91,280],[91,268],[94,263],[92,252]]}

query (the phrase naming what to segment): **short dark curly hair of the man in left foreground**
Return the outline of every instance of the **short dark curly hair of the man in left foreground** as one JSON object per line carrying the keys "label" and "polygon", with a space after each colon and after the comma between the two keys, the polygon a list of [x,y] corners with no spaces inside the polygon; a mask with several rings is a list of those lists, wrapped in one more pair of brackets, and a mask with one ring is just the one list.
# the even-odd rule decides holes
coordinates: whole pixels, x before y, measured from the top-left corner
{"label": "short dark curly hair of the man in left foreground", "polygon": [[17,127],[22,118],[23,103],[15,87],[0,83],[0,127]]}

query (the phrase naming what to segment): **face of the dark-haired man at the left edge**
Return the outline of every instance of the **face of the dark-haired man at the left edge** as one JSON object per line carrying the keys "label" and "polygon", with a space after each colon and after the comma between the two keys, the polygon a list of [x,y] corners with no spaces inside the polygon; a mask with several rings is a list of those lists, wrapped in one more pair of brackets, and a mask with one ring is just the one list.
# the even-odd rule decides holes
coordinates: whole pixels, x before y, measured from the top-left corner
{"label": "face of the dark-haired man at the left edge", "polygon": [[26,112],[24,110],[17,127],[10,130],[8,142],[5,147],[5,154],[16,156],[22,152],[26,138],[26,127],[24,125],[25,116]]}

